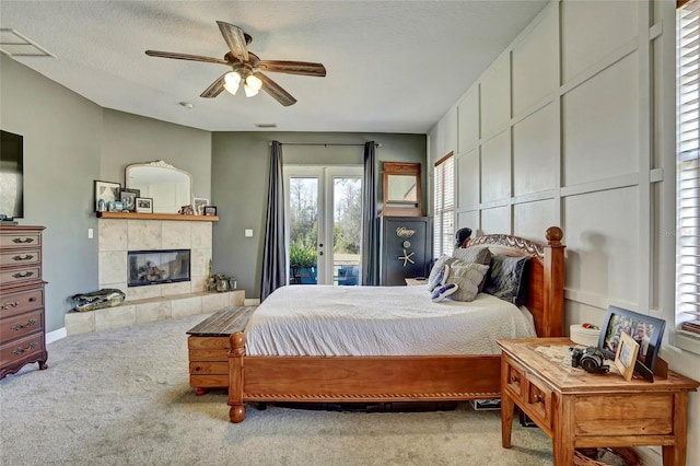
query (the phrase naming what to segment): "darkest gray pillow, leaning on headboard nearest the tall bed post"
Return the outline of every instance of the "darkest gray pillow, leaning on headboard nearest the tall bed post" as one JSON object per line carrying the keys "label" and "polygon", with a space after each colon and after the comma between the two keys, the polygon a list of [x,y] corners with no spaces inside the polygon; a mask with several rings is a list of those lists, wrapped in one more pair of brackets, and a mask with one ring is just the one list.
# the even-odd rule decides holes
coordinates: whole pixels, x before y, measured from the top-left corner
{"label": "darkest gray pillow, leaning on headboard nearest the tall bed post", "polygon": [[529,256],[510,257],[494,255],[491,257],[491,270],[486,279],[483,292],[493,294],[516,306],[525,304],[525,268]]}

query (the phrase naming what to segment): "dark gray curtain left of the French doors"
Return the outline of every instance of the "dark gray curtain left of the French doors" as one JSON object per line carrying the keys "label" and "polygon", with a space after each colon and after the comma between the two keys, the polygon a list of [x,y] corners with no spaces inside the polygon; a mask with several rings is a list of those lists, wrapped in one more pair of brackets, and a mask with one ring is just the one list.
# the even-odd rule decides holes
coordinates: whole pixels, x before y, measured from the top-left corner
{"label": "dark gray curtain left of the French doors", "polygon": [[287,284],[287,247],[284,244],[284,178],[282,177],[282,144],[272,141],[270,176],[262,253],[262,286],[260,302],[272,291]]}

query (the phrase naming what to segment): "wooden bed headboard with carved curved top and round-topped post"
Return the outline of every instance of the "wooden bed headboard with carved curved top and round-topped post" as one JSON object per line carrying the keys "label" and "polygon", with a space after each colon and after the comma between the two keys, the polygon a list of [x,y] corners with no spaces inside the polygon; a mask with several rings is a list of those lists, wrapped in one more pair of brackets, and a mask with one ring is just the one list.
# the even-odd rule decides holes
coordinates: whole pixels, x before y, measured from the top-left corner
{"label": "wooden bed headboard with carved curved top and round-topped post", "polygon": [[538,337],[563,336],[564,249],[563,232],[550,226],[546,244],[520,236],[488,234],[476,236],[468,247],[487,245],[491,253],[505,256],[529,256],[526,306],[535,319]]}

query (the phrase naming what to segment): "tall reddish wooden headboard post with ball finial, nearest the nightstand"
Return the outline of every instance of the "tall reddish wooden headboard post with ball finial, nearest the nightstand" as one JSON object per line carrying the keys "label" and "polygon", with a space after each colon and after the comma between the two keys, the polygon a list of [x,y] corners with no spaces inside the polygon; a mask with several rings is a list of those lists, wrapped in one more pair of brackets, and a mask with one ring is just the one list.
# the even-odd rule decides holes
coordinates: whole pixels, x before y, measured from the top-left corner
{"label": "tall reddish wooden headboard post with ball finial, nearest the nightstand", "polygon": [[564,233],[559,226],[547,229],[545,237],[545,318],[544,335],[561,337],[564,330]]}

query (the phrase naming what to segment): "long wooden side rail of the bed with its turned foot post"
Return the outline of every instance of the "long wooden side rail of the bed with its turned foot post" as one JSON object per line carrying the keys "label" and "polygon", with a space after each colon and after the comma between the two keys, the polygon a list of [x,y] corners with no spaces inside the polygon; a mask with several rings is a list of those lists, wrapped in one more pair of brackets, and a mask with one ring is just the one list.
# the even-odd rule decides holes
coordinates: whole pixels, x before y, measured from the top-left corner
{"label": "long wooden side rail of the bed with its turned foot post", "polygon": [[245,335],[231,336],[229,416],[246,401],[447,401],[498,398],[500,356],[245,356]]}

